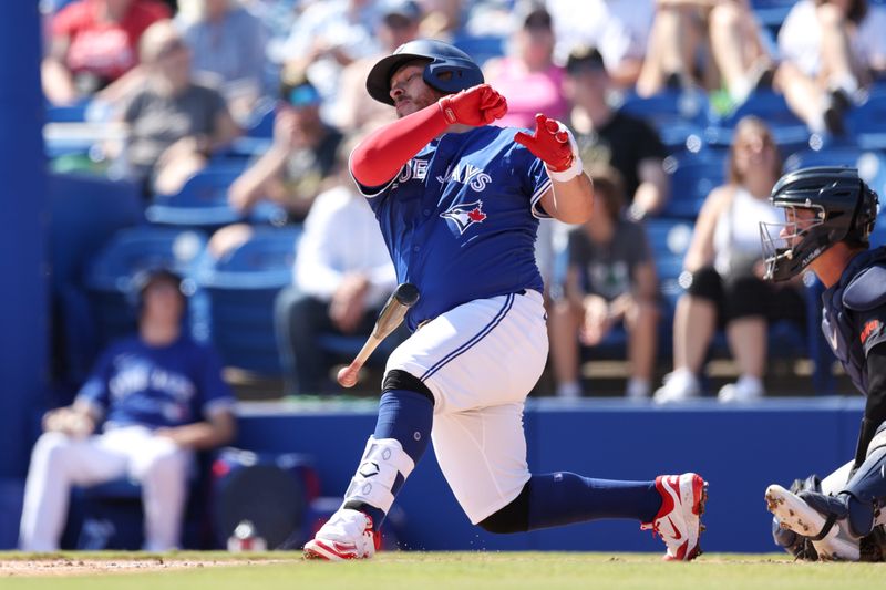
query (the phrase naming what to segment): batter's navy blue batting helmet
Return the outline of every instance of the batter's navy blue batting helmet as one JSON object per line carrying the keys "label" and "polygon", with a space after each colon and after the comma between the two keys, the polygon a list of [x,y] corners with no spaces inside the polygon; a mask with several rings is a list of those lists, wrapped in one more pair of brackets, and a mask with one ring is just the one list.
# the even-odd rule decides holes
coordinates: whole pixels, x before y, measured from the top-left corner
{"label": "batter's navy blue batting helmet", "polygon": [[433,39],[416,39],[403,43],[392,55],[382,58],[367,76],[369,95],[377,101],[393,105],[391,76],[406,62],[424,60],[422,77],[440,92],[454,94],[483,83],[483,72],[474,60],[455,45]]}

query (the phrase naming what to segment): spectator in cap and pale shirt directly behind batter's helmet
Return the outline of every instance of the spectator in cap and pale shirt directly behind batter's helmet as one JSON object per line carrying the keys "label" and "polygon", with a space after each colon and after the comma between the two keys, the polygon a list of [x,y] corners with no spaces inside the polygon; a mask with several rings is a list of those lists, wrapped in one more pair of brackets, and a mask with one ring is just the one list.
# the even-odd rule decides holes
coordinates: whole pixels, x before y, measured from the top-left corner
{"label": "spectator in cap and pale shirt directly behind batter's helmet", "polygon": [[387,104],[373,101],[367,94],[367,76],[382,56],[416,38],[422,9],[414,0],[385,0],[379,12],[381,20],[375,35],[382,45],[381,53],[357,60],[341,72],[336,121],[344,133],[368,130],[395,118]]}

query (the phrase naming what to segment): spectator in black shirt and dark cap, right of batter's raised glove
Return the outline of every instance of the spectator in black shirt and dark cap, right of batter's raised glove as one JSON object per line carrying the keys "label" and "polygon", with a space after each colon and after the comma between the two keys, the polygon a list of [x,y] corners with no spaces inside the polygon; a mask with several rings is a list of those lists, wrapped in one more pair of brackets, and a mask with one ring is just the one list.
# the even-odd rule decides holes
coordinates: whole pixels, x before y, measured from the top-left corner
{"label": "spectator in black shirt and dark cap, right of batter's raised glove", "polygon": [[661,209],[668,198],[666,151],[652,127],[608,102],[610,77],[602,55],[576,48],[566,62],[564,93],[573,105],[569,127],[586,166],[607,164],[624,179],[628,211],[635,220]]}

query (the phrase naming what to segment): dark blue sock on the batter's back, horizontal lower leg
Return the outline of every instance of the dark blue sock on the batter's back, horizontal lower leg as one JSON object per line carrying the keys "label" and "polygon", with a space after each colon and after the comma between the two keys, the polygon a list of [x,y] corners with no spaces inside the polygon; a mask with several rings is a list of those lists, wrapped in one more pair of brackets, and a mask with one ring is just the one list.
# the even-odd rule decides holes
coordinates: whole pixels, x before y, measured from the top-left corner
{"label": "dark blue sock on the batter's back, horizontal lower leg", "polygon": [[568,472],[529,479],[529,530],[597,518],[650,522],[660,507],[655,482],[591,479]]}

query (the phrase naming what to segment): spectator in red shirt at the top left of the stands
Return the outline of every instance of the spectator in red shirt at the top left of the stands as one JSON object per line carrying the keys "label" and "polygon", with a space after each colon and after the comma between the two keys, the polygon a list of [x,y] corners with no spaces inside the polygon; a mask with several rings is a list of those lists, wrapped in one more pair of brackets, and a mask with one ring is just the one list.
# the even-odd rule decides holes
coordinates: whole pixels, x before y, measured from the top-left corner
{"label": "spectator in red shirt at the top left of the stands", "polygon": [[41,66],[47,99],[71,104],[113,82],[124,84],[121,79],[138,64],[142,34],[169,14],[155,0],[76,0],[65,6],[52,17]]}

